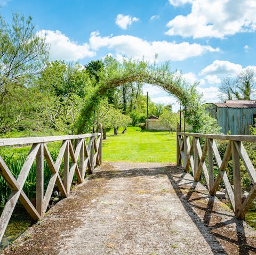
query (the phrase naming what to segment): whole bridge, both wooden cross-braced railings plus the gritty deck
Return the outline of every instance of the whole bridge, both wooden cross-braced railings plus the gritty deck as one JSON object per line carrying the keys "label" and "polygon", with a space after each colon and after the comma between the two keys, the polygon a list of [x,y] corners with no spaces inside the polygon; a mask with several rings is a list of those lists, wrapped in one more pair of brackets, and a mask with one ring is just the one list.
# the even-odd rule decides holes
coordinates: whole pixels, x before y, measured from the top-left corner
{"label": "whole bridge, both wooden cross-braced railings plus the gritty deck", "polygon": [[[215,139],[228,141],[223,159]],[[54,162],[47,143],[55,141],[62,145]],[[31,217],[39,219],[3,254],[256,254],[256,232],[239,219],[255,198],[256,182],[243,141],[256,142],[256,137],[178,132],[177,141],[176,166],[102,163],[101,132],[0,139],[0,146],[31,144],[17,179],[0,157],[0,174],[12,190],[0,218],[1,238],[18,200]],[[234,188],[225,171],[230,157]],[[253,184],[243,203],[240,158]],[[213,176],[214,160],[219,168],[217,178]],[[22,191],[34,161],[35,206]],[[45,163],[52,172],[46,191]],[[187,173],[189,169],[193,176]],[[70,191],[74,174],[81,184]],[[198,182],[201,175],[207,189]],[[214,198],[221,180],[234,212]],[[55,183],[67,198],[45,213]]]}

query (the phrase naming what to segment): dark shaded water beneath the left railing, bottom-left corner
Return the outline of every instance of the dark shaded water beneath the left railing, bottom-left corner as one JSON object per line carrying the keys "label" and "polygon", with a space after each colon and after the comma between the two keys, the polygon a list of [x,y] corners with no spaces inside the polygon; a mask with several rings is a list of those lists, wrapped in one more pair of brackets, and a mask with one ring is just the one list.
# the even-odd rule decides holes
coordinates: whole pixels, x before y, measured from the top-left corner
{"label": "dark shaded water beneath the left railing, bottom-left corner", "polygon": [[[0,209],[0,214],[3,209]],[[32,219],[24,208],[15,208],[11,220],[6,228],[3,239],[0,243],[0,250],[18,238],[26,229],[31,226]]]}

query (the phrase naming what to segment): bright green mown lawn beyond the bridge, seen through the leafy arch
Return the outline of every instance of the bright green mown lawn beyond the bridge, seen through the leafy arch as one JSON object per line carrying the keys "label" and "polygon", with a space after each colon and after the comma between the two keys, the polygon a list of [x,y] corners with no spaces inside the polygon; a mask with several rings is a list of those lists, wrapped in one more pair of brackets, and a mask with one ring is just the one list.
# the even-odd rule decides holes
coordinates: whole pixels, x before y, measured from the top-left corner
{"label": "bright green mown lawn beyond the bridge, seen through the leafy arch", "polygon": [[139,127],[127,127],[127,132],[114,136],[107,133],[103,141],[103,161],[175,162],[176,133],[168,131],[141,131]]}

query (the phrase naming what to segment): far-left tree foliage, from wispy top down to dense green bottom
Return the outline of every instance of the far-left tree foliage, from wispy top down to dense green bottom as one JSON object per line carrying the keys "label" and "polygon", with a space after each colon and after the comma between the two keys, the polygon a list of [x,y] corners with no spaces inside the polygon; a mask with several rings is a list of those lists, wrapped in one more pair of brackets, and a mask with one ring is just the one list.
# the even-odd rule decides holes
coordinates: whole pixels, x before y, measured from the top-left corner
{"label": "far-left tree foliage, from wispy top down to dense green bottom", "polygon": [[31,17],[13,13],[12,24],[0,17],[0,46],[0,133],[35,128],[42,97],[30,84],[47,61],[45,39],[36,33]]}

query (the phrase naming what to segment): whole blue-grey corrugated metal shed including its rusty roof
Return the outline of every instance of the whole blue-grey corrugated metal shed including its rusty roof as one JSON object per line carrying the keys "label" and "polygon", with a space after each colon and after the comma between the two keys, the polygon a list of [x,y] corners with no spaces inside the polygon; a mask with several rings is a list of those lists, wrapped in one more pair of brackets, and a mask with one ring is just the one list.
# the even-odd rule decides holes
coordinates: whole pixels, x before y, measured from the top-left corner
{"label": "whole blue-grey corrugated metal shed including its rusty roof", "polygon": [[207,111],[218,120],[222,133],[250,135],[250,126],[254,125],[256,118],[256,101],[226,100],[225,103],[210,103]]}

